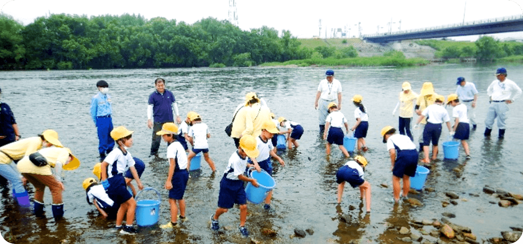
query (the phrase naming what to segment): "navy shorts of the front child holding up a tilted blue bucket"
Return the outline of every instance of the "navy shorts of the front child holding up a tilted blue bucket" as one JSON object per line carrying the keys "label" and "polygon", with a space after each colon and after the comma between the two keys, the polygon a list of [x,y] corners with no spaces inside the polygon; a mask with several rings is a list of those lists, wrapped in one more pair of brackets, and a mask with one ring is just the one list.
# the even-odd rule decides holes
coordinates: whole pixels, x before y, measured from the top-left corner
{"label": "navy shorts of the front child holding up a tilted blue bucket", "polygon": [[220,193],[218,195],[218,207],[232,208],[234,204],[247,204],[247,194],[243,187],[243,181],[231,180],[223,176],[220,181]]}

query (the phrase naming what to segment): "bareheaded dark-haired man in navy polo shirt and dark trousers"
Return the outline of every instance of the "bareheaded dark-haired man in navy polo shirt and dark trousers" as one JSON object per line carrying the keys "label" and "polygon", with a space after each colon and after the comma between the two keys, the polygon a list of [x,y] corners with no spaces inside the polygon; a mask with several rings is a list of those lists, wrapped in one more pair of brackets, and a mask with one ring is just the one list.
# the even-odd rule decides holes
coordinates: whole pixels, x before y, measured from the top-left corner
{"label": "bareheaded dark-haired man in navy polo shirt and dark trousers", "polygon": [[156,132],[162,129],[163,124],[168,122],[174,123],[173,110],[176,113],[176,123],[181,123],[176,99],[172,92],[165,90],[165,80],[158,78],[154,81],[154,85],[156,86],[156,91],[149,95],[147,105],[147,127],[153,129],[151,155],[158,154],[158,148],[160,148],[160,141],[162,140],[162,137],[156,135]]}

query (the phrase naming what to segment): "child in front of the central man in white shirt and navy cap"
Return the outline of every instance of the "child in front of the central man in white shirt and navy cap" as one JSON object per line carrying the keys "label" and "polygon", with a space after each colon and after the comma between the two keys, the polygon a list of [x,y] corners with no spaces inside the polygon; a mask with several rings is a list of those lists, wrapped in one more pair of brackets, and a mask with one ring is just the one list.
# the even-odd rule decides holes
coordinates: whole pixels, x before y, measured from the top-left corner
{"label": "child in front of the central man in white shirt and navy cap", "polygon": [[345,130],[348,134],[349,124],[347,123],[347,119],[342,112],[338,110],[338,105],[336,103],[329,103],[327,108],[329,114],[327,115],[327,119],[325,119],[325,129],[323,132],[323,139],[327,140],[327,155],[331,154],[331,145],[337,144],[339,150],[342,150],[345,157],[348,158],[350,155],[345,146],[343,146],[344,135],[342,129],[342,126],[345,126]]}

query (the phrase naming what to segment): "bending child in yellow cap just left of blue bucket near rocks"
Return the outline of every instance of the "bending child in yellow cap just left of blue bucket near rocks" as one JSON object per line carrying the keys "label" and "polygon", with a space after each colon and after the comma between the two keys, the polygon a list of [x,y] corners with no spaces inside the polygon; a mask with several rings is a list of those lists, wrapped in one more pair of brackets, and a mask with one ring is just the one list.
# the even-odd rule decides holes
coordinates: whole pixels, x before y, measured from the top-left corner
{"label": "bending child in yellow cap just left of blue bucket near rocks", "polygon": [[394,202],[397,203],[400,201],[400,181],[402,179],[403,198],[407,197],[408,191],[411,189],[411,177],[416,175],[418,152],[410,137],[395,133],[396,129],[392,126],[385,126],[381,129],[383,143],[387,143],[387,151],[389,151],[391,159],[392,191]]}

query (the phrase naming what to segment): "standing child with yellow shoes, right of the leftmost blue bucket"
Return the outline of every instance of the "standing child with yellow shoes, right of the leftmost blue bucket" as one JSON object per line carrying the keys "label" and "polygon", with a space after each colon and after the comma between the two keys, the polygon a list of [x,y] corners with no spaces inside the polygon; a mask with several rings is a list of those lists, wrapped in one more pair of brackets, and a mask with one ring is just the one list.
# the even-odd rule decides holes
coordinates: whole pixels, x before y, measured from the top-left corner
{"label": "standing child with yellow shoes, right of the leftmost blue bucket", "polygon": [[[184,221],[185,217],[185,199],[184,193],[189,180],[189,171],[187,171],[187,156],[185,149],[180,142],[176,140],[178,127],[174,123],[165,123],[162,130],[156,132],[156,135],[162,136],[167,142],[167,159],[169,160],[169,171],[165,181],[165,189],[169,190],[170,205],[170,222],[161,225],[160,228],[178,228],[178,206],[180,210],[180,220]],[[178,206],[176,205],[178,204]]]}

